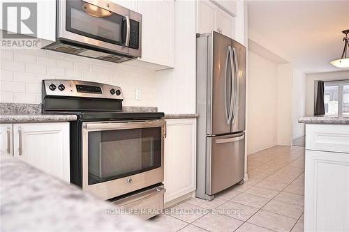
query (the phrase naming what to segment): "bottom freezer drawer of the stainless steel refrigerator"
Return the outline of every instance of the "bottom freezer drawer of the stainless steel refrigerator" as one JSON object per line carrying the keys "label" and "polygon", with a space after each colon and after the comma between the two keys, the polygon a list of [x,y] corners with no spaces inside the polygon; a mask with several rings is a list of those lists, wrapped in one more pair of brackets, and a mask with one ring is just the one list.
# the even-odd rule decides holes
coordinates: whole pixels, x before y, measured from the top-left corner
{"label": "bottom freezer drawer of the stainless steel refrigerator", "polygon": [[206,186],[208,195],[216,194],[244,179],[245,133],[207,137],[211,146],[211,178]]}

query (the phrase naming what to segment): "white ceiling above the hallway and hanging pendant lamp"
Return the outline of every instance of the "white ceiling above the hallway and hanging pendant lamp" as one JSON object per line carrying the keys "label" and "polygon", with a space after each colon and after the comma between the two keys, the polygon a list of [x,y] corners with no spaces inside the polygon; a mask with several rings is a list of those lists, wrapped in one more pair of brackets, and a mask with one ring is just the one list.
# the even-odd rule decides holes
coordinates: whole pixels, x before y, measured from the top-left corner
{"label": "white ceiling above the hallway and hanging pendant lamp", "polygon": [[349,70],[329,63],[343,52],[344,29],[349,0],[248,1],[248,31],[263,39],[255,42],[306,73]]}

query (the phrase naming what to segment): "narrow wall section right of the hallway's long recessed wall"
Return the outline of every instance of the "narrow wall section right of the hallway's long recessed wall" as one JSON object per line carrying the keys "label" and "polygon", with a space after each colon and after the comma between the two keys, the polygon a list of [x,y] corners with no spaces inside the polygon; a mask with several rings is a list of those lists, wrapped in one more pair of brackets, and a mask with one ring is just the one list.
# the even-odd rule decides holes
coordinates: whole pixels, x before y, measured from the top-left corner
{"label": "narrow wall section right of the hallway's long recessed wall", "polygon": [[292,79],[290,63],[278,65],[277,74],[277,144],[291,145],[292,137]]}

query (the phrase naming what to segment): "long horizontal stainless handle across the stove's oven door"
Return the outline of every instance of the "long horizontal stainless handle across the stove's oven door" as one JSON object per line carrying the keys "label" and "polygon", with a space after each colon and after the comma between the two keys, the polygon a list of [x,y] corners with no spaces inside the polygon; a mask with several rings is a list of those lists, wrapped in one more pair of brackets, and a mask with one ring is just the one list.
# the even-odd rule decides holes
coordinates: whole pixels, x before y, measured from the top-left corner
{"label": "long horizontal stainless handle across the stove's oven door", "polygon": [[87,130],[123,130],[147,127],[163,127],[165,121],[131,122],[131,123],[86,123]]}

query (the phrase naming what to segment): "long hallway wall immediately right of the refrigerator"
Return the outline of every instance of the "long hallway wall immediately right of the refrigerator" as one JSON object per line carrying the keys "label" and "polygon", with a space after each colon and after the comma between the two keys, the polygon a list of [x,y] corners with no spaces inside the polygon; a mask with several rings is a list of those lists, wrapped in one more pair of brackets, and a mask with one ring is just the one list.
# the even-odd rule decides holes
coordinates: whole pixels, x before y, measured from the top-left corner
{"label": "long hallway wall immediately right of the refrigerator", "polygon": [[277,144],[276,63],[248,52],[247,153]]}

